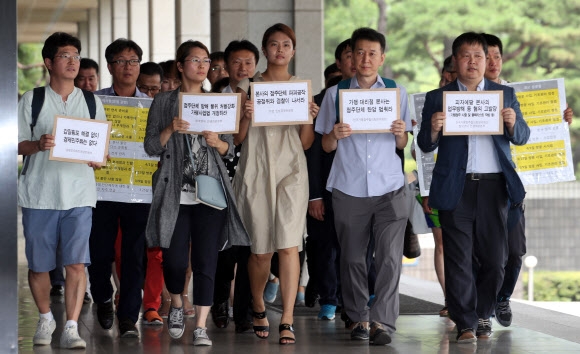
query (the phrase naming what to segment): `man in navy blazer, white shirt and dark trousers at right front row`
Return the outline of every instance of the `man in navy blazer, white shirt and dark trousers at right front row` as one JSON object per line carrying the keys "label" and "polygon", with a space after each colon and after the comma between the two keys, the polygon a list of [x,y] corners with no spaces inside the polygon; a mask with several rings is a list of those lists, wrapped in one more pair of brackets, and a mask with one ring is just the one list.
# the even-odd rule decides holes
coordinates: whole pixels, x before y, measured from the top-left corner
{"label": "man in navy blazer, white shirt and dark trousers at right front row", "polygon": [[[484,79],[486,55],[481,35],[468,32],[455,39],[457,80],[427,93],[417,138],[425,152],[439,147],[429,206],[439,209],[447,305],[458,343],[492,333],[490,317],[507,259],[508,199],[517,205],[525,196],[510,142],[525,144],[530,130],[514,90]],[[483,90],[503,91],[503,135],[444,136],[443,92]]]}

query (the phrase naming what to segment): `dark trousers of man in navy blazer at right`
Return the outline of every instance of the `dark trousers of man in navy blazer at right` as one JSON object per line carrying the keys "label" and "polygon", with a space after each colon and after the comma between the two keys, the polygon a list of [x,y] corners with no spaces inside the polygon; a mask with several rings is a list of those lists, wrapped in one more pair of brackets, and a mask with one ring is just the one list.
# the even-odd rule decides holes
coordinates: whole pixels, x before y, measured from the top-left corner
{"label": "dark trousers of man in navy blazer at right", "polygon": [[507,259],[508,197],[505,180],[467,178],[454,210],[439,210],[445,289],[457,330],[490,318]]}

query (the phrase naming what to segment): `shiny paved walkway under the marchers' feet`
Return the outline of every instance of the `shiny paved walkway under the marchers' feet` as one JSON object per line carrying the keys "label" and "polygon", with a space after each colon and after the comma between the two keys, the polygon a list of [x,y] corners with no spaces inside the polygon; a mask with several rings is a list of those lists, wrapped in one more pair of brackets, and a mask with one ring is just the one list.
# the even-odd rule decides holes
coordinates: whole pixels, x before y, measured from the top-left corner
{"label": "shiny paved walkway under the marchers' feet", "polygon": [[[19,227],[20,227],[19,223]],[[20,353],[78,353],[61,350],[60,333],[64,326],[64,305],[55,301],[52,311],[57,319],[57,329],[51,346],[32,346],[32,337],[38,321],[38,311],[32,300],[26,279],[24,239],[19,237],[19,352]],[[417,299],[442,303],[441,288],[433,281],[410,276],[401,277],[400,292]],[[58,300],[58,299],[55,299]],[[233,324],[226,329],[216,328],[208,321],[208,334],[212,347],[194,347],[194,320],[187,319],[186,332],[180,340],[172,340],[167,326],[151,327],[137,324],[139,339],[121,339],[116,329],[103,330],[96,317],[93,304],[83,307],[79,328],[87,341],[85,353],[580,353],[580,317],[570,315],[566,304],[551,304],[554,309],[543,309],[526,302],[514,301],[513,325],[501,327],[496,322],[490,340],[477,345],[455,343],[454,324],[436,315],[403,315],[397,321],[397,332],[389,346],[373,347],[368,343],[350,340],[343,322],[318,321],[314,316],[296,316],[294,326],[297,343],[294,346],[278,344],[277,325],[280,314],[268,313],[272,332],[268,340],[259,340],[252,333],[236,334]]]}

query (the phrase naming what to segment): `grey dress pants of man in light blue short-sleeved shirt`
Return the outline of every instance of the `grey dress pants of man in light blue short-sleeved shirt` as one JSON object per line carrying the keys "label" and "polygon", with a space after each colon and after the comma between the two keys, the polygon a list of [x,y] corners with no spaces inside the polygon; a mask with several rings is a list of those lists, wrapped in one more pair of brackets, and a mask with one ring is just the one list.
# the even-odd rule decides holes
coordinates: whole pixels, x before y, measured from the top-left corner
{"label": "grey dress pants of man in light blue short-sleeved shirt", "polygon": [[[389,333],[399,316],[399,279],[409,202],[405,187],[378,197],[352,197],[334,189],[332,205],[341,248],[343,305],[354,322],[378,322]],[[375,235],[375,302],[368,308],[366,252]]]}

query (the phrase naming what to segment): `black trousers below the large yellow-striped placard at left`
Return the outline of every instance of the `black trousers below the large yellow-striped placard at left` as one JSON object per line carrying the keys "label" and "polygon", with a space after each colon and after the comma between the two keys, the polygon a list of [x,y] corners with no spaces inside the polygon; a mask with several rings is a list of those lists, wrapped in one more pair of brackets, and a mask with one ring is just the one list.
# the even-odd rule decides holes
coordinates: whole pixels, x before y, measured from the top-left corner
{"label": "black trousers below the large yellow-striped placard at left", "polygon": [[115,240],[121,227],[120,297],[117,307],[119,320],[137,322],[141,309],[141,289],[144,280],[145,226],[149,204],[97,202],[93,209],[93,225],[89,247],[91,265],[91,295],[96,303],[113,296],[111,264],[115,260]]}

